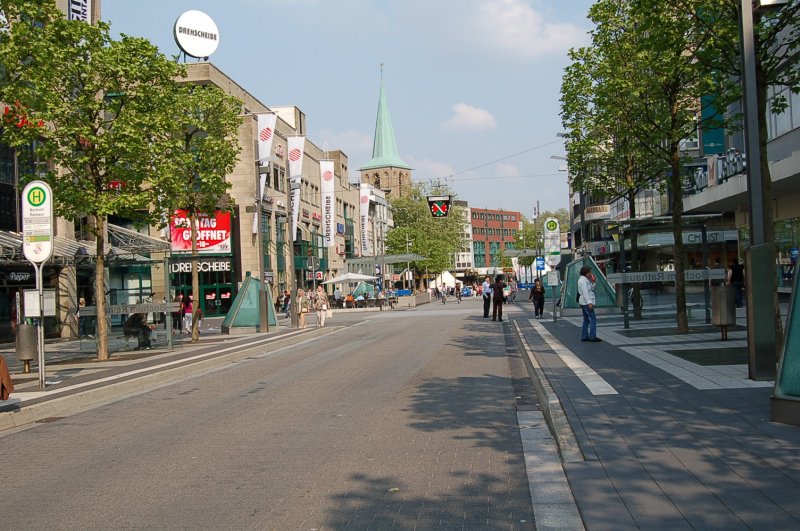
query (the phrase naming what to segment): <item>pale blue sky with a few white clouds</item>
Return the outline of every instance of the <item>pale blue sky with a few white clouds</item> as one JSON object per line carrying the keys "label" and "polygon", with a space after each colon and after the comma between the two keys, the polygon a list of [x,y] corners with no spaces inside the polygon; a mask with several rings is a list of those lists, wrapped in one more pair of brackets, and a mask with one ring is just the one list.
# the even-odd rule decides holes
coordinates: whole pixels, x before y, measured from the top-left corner
{"label": "pale blue sky with a few white clouds", "polygon": [[[415,182],[471,207],[528,218],[567,208],[559,91],[570,48],[588,44],[591,0],[102,0],[114,33],[179,52],[184,11],[219,29],[210,57],[266,106],[295,105],[307,137],[372,155],[381,75],[400,157]],[[189,59],[189,61],[196,61]],[[381,63],[383,72],[381,74]]]}

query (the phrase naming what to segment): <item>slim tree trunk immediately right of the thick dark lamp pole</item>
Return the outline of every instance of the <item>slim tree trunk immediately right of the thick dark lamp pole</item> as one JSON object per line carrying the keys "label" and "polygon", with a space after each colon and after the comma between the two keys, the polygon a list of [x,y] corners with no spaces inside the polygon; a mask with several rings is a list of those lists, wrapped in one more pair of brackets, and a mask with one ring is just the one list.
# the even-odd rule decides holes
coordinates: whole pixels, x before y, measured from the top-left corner
{"label": "slim tree trunk immediately right of the thick dark lamp pole", "polygon": [[[757,33],[757,32],[756,32]],[[757,35],[755,37],[758,38]],[[756,44],[759,46],[759,44]],[[758,101],[758,150],[761,159],[761,211],[764,213],[764,241],[772,246],[772,264],[777,264],[777,247],[775,246],[775,225],[773,220],[772,175],[769,171],[769,155],[767,153],[767,82],[760,62],[756,63],[756,100]],[[752,236],[751,236],[752,244]],[[783,345],[783,322],[778,300],[778,276],[773,268],[772,301],[775,312],[775,359],[780,356]],[[752,310],[748,308],[748,311]]]}

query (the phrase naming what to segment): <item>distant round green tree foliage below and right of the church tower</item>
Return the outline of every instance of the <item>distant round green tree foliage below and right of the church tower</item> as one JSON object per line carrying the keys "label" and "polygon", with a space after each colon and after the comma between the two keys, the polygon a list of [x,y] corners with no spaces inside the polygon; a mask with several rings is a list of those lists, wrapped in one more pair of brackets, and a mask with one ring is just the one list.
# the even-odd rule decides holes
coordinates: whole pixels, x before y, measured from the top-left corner
{"label": "distant round green tree foliage below and right of the church tower", "polygon": [[[433,195],[455,194],[438,190]],[[420,186],[410,193],[391,200],[394,228],[386,235],[390,254],[416,253],[426,260],[412,262],[417,275],[441,273],[452,267],[453,255],[465,244],[464,209],[451,203],[447,217],[434,218],[428,208],[427,197]],[[407,244],[408,242],[408,244]]]}

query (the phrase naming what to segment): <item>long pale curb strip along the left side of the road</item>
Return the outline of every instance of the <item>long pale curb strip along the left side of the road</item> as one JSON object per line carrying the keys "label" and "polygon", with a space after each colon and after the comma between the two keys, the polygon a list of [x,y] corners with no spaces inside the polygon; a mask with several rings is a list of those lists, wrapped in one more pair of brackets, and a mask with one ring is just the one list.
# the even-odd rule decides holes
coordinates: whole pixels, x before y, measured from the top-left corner
{"label": "long pale curb strip along the left side of the road", "polygon": [[[23,405],[21,408],[13,411],[0,412],[0,435],[4,430],[20,428],[27,424],[62,415],[69,411],[76,409],[93,409],[94,407],[100,407],[126,396],[143,394],[187,376],[215,369],[228,363],[241,361],[257,354],[271,352],[325,333],[334,332],[335,330],[335,327],[330,327],[313,329],[307,332],[289,332],[280,337],[257,338],[256,341],[261,342],[261,344],[257,346],[243,346],[238,350],[219,356],[214,356],[213,353],[209,353],[208,357],[205,359],[196,361],[191,359],[185,360],[185,363],[168,369],[157,370],[157,368],[154,368],[156,372],[144,373],[141,376],[134,376],[119,382],[105,385],[100,384],[100,387],[93,389],[55,397],[52,400],[46,400],[28,406]],[[120,378],[124,376],[125,374],[122,374]]]}

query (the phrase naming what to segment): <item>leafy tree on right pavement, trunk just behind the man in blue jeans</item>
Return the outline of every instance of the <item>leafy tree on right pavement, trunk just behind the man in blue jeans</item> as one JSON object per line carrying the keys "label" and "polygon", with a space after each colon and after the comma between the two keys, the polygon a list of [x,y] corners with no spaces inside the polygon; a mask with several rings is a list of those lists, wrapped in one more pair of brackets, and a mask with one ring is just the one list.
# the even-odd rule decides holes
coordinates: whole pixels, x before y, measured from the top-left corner
{"label": "leafy tree on right pavement, trunk just behind the man in blue jeans", "polygon": [[[641,150],[648,160],[667,169],[656,186],[664,189],[670,200],[676,320],[678,329],[685,332],[689,325],[684,278],[683,167],[688,156],[682,150],[682,142],[697,134],[699,96],[712,88],[706,72],[693,59],[692,48],[702,41],[702,36],[694,35],[697,26],[691,18],[661,0],[599,0],[591,7],[589,18],[595,28],[584,60],[591,63],[588,72],[600,74],[591,80],[599,87],[593,93],[601,94],[602,104],[610,104],[609,98],[604,101],[602,95],[631,96],[625,99],[624,108],[612,113],[625,129],[625,136],[620,138],[630,139],[637,152]],[[592,105],[597,103],[592,101]],[[609,149],[620,138],[609,138],[603,131],[598,135],[599,142]],[[568,159],[570,150],[578,149],[572,148],[569,140]]]}

